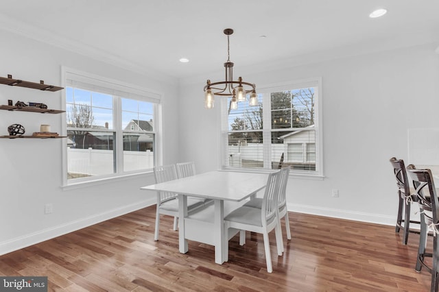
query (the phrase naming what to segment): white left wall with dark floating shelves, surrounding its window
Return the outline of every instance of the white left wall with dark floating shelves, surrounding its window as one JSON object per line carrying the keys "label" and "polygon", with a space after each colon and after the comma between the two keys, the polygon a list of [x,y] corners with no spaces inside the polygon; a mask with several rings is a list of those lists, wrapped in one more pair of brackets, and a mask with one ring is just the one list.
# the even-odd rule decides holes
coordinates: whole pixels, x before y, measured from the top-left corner
{"label": "white left wall with dark floating shelves, surrounding its window", "polygon": [[[148,88],[163,95],[163,162],[178,160],[178,108],[172,99],[178,94],[177,80],[156,77],[154,73],[134,73],[72,53],[58,47],[0,30],[2,77],[31,82],[45,80],[61,85],[61,66],[101,75]],[[56,93],[0,84],[0,104],[21,101],[43,102],[49,108],[62,108],[64,90]],[[0,135],[7,135],[12,123],[25,126],[26,133],[38,132],[40,124],[61,131],[65,114],[0,112]],[[62,148],[66,139],[0,139],[0,254],[83,228],[110,217],[153,204],[155,194],[139,188],[154,183],[152,175],[139,175],[94,186],[62,189]],[[54,212],[44,214],[51,203]]]}

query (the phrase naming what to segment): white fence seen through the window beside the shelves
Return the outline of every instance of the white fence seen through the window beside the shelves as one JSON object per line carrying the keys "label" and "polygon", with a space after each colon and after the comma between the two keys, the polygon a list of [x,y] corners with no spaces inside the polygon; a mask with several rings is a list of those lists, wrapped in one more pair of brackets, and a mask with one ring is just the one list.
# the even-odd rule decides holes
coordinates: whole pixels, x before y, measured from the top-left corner
{"label": "white fence seen through the window beside the shelves", "polygon": [[[83,175],[104,175],[114,172],[114,154],[112,150],[67,148],[69,173]],[[123,151],[123,171],[150,169],[154,167],[152,151]]]}

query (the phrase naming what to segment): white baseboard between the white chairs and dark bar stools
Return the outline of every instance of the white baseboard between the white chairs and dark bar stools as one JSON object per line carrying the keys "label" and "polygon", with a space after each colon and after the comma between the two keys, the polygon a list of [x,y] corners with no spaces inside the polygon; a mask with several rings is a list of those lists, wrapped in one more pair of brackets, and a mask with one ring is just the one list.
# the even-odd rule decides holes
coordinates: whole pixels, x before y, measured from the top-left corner
{"label": "white baseboard between the white chairs and dark bar stools", "polygon": [[377,223],[381,225],[393,226],[396,218],[388,215],[354,212],[351,210],[340,210],[332,208],[322,208],[316,206],[307,206],[300,204],[287,204],[287,209],[291,212],[299,212],[311,215],[333,217],[339,219],[347,219],[353,221],[361,221],[367,223]]}

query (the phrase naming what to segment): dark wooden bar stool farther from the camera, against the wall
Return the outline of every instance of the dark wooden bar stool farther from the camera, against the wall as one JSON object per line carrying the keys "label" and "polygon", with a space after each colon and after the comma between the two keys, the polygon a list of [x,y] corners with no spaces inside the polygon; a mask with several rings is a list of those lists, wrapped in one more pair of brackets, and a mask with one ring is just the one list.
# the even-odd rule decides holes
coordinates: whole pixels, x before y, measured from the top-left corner
{"label": "dark wooden bar stool farther from the camera, against the wall", "polygon": [[404,230],[402,241],[403,245],[407,245],[409,233],[418,233],[417,231],[410,230],[410,223],[420,224],[419,221],[410,220],[410,206],[416,197],[412,196],[410,191],[410,183],[407,181],[404,160],[392,157],[390,158],[390,164],[393,167],[398,188],[398,215],[396,216],[395,232],[399,233],[401,228]]}

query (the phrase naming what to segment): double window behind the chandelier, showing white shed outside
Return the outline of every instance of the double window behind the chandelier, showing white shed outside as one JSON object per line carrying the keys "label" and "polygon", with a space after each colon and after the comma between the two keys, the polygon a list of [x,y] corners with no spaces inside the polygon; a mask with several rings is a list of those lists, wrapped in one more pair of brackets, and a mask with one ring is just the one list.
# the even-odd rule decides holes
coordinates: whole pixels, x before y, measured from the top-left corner
{"label": "double window behind the chandelier, showing white shed outside", "polygon": [[320,79],[258,91],[259,106],[242,101],[230,110],[230,98],[223,101],[223,167],[322,175]]}

